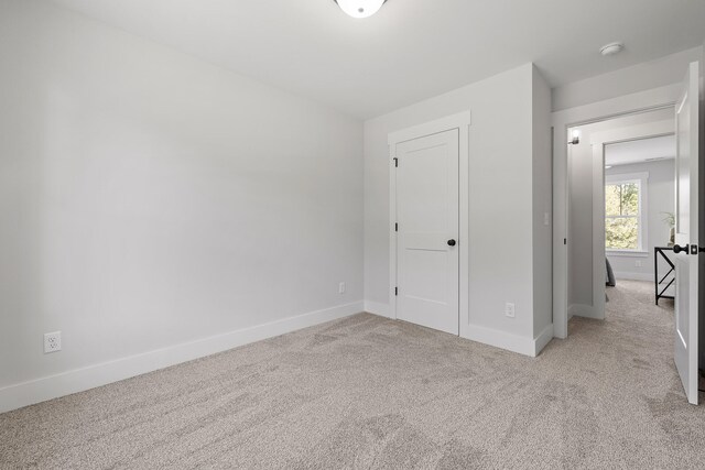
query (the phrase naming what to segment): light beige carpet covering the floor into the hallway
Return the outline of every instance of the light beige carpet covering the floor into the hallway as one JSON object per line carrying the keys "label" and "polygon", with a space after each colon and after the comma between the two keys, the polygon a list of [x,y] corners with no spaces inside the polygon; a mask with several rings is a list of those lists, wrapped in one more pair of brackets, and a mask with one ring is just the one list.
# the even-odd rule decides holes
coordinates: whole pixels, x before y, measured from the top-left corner
{"label": "light beige carpet covering the floor into the hallway", "polygon": [[[672,310],[609,291],[536,359],[358,315],[0,415],[3,468],[696,468]],[[672,304],[671,304],[672,305]]]}

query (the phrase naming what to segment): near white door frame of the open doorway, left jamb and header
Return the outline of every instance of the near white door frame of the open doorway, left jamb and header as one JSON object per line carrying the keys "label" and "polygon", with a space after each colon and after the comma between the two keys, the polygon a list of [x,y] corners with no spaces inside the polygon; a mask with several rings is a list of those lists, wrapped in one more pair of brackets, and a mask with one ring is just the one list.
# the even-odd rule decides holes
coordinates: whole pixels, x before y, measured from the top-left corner
{"label": "near white door frame of the open doorway, left jamb and header", "polygon": [[[553,123],[553,336],[568,336],[568,129],[621,116],[675,106],[681,85],[674,84],[590,105],[554,111]],[[567,242],[564,242],[566,240]]]}

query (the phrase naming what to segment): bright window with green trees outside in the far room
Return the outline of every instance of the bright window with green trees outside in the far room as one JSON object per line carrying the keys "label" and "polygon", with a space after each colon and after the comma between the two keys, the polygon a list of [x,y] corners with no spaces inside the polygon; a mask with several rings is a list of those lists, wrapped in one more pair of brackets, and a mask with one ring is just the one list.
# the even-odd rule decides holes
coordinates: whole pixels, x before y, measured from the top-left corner
{"label": "bright window with green trees outside in the far room", "polygon": [[605,179],[605,248],[646,252],[648,174],[608,175]]}

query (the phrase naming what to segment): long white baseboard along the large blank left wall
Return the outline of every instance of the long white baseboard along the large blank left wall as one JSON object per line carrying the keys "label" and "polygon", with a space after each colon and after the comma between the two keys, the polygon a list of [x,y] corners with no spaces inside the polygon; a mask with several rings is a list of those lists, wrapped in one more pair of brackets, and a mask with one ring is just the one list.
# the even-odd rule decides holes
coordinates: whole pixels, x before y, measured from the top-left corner
{"label": "long white baseboard along the large blank left wall", "polygon": [[250,342],[359,314],[364,310],[362,307],[362,300],[339,305],[4,386],[0,389],[0,413],[83,392],[170,365],[227,351]]}

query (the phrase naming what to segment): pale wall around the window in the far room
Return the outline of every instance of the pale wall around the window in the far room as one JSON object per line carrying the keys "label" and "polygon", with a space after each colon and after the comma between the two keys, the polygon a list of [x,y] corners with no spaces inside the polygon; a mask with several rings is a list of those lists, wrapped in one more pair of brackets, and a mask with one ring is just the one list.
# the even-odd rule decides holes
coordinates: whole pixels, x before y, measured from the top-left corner
{"label": "pale wall around the window in the far room", "polygon": [[[605,175],[649,174],[647,188],[648,255],[634,258],[608,253],[607,258],[617,278],[653,281],[653,248],[666,247],[670,237],[670,227],[663,222],[664,212],[675,211],[674,172],[673,160],[618,165],[605,171]],[[663,275],[666,271],[666,262],[660,259],[659,273]]]}

